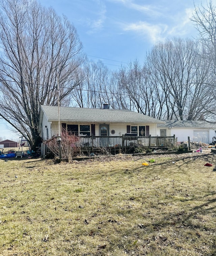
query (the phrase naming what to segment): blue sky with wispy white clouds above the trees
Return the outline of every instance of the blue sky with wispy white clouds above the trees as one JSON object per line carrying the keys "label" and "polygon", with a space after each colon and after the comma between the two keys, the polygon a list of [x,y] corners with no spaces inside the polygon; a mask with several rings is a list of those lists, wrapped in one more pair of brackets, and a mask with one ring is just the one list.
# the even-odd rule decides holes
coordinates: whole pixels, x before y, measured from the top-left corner
{"label": "blue sky with wispy white clouds above the trees", "polygon": [[[190,21],[194,4],[201,0],[41,0],[64,14],[77,29],[88,58],[101,60],[109,69],[138,59],[166,38],[196,38]],[[203,1],[206,4],[206,1]],[[216,5],[216,0],[213,0]],[[3,124],[2,124],[3,123]],[[0,120],[0,136],[14,137]],[[18,136],[19,137],[19,136]]]}

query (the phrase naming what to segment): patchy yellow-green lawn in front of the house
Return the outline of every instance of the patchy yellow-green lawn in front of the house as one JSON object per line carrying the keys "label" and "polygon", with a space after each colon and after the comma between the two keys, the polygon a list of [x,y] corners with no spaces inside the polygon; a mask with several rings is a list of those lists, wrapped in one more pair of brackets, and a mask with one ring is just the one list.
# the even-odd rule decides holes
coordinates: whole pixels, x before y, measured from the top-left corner
{"label": "patchy yellow-green lawn in front of the house", "polygon": [[215,156],[138,158],[0,160],[0,255],[216,255]]}

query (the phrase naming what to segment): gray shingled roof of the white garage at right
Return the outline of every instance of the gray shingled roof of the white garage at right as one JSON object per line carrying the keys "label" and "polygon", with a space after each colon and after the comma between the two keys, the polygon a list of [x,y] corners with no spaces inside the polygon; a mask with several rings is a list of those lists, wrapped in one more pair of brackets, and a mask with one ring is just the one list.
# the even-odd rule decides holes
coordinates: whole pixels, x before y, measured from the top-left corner
{"label": "gray shingled roof of the white garage at right", "polygon": [[188,121],[188,120],[174,120],[166,121],[165,124],[158,124],[158,127],[182,127],[182,128],[212,128],[216,127],[216,124],[204,122],[204,121]]}

